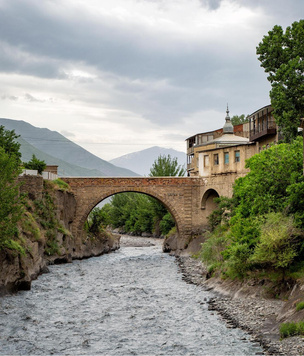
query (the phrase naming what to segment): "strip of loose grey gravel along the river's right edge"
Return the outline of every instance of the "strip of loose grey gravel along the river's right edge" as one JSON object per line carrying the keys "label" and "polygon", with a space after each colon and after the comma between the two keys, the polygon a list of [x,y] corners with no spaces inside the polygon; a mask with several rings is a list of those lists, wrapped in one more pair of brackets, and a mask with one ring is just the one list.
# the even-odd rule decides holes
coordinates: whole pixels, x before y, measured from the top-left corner
{"label": "strip of loose grey gravel along the river's right edge", "polygon": [[[177,257],[184,280],[205,289],[213,289],[206,282],[202,263],[191,257]],[[225,293],[226,294],[226,293]],[[284,301],[254,296],[229,295],[215,292],[209,300],[209,309],[217,311],[231,328],[246,330],[252,339],[263,346],[265,355],[304,355],[304,338],[280,340],[277,317]]]}

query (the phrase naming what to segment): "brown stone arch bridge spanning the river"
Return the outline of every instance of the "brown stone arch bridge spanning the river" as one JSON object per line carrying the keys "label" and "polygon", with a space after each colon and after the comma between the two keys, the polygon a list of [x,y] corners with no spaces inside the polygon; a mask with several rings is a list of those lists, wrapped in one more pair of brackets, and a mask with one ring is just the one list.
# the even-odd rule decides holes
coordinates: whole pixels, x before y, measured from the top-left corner
{"label": "brown stone arch bridge spanning the river", "polygon": [[[190,239],[207,224],[214,209],[213,199],[227,195],[225,180],[199,177],[102,177],[62,178],[76,199],[76,212],[71,224],[74,236],[84,233],[84,223],[91,210],[107,197],[123,192],[137,192],[159,200],[175,219],[178,231],[176,249],[187,246]],[[229,194],[228,194],[229,195]]]}

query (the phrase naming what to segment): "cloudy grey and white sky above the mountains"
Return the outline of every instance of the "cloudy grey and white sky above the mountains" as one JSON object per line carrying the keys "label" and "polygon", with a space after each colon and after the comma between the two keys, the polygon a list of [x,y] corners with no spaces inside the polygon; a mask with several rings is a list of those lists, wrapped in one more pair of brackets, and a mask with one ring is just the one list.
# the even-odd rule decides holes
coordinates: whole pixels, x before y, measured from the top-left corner
{"label": "cloudy grey and white sky above the mountains", "polygon": [[0,117],[109,160],[269,104],[256,46],[303,0],[0,0]]}

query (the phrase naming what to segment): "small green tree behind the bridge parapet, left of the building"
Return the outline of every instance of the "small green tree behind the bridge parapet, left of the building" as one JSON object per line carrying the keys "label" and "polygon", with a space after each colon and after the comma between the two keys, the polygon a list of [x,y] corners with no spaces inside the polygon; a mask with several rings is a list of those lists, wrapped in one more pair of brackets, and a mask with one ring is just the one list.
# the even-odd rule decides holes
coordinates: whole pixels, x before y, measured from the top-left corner
{"label": "small green tree behind the bridge parapet, left of the building", "polygon": [[150,177],[182,177],[186,169],[178,164],[177,158],[170,155],[159,155],[150,168]]}

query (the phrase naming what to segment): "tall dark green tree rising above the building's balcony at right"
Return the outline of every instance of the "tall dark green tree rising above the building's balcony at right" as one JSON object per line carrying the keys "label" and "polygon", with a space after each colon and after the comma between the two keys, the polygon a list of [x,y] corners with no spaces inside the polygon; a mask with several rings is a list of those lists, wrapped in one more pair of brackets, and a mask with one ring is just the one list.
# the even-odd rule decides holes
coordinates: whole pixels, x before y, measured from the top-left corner
{"label": "tall dark green tree rising above the building's balcony at right", "polygon": [[271,83],[273,114],[284,141],[297,136],[304,116],[304,20],[294,22],[284,33],[274,26],[257,46],[261,67]]}

